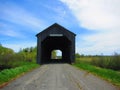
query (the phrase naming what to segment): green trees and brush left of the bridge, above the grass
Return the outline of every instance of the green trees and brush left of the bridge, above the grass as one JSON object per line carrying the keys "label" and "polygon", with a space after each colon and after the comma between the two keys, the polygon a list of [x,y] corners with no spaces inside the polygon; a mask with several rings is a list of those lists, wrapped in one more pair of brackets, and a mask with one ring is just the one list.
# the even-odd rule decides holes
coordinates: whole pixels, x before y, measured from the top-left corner
{"label": "green trees and brush left of the bridge, above the grass", "polygon": [[15,53],[12,49],[0,45],[0,70],[24,65],[36,61],[37,47],[25,48]]}

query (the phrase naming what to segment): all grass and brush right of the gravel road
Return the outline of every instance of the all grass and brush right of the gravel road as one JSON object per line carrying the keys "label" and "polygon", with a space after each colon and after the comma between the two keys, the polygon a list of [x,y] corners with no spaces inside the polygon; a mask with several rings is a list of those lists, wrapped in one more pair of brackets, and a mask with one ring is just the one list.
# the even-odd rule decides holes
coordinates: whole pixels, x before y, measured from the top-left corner
{"label": "all grass and brush right of the gravel road", "polygon": [[120,55],[117,53],[112,56],[84,56],[77,53],[73,65],[120,86]]}

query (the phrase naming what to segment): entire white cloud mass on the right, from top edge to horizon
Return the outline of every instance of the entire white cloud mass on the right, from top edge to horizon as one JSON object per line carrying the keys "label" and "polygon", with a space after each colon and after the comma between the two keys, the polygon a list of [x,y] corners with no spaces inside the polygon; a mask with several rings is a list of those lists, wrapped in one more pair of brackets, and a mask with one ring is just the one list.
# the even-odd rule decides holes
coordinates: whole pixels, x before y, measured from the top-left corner
{"label": "entire white cloud mass on the right, from top edge to horizon", "polygon": [[120,53],[120,0],[60,1],[69,7],[81,27],[97,31],[95,34],[80,36],[84,42],[78,40],[78,52]]}

